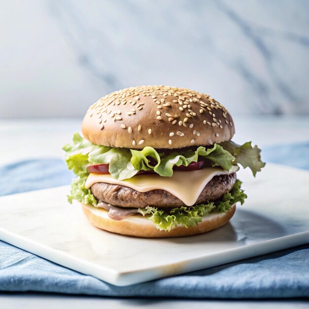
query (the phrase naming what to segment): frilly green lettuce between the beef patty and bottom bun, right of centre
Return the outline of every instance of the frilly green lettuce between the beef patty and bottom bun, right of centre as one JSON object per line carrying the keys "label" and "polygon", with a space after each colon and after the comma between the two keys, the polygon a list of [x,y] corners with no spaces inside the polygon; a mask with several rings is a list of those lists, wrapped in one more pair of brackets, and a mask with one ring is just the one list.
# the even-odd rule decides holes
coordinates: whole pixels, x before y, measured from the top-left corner
{"label": "frilly green lettuce between the beef patty and bottom bun, right of centre", "polygon": [[139,208],[138,211],[153,221],[154,226],[160,231],[171,231],[178,226],[190,228],[202,221],[202,218],[212,211],[227,212],[232,205],[240,202],[243,204],[247,195],[240,189],[241,181],[237,180],[232,190],[225,193],[217,201],[209,201],[191,207],[177,207],[166,211],[156,207]]}

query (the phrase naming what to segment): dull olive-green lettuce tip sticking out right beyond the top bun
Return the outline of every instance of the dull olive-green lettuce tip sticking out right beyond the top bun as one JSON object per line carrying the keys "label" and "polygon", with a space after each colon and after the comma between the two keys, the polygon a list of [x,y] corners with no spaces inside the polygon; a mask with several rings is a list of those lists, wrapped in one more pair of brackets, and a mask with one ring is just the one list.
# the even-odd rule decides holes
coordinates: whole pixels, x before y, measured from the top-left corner
{"label": "dull olive-green lettuce tip sticking out right beyond the top bun", "polygon": [[238,145],[229,141],[222,143],[221,145],[236,158],[236,163],[242,165],[243,168],[249,167],[254,177],[266,164],[261,160],[261,149],[259,149],[257,145],[252,147],[251,142]]}

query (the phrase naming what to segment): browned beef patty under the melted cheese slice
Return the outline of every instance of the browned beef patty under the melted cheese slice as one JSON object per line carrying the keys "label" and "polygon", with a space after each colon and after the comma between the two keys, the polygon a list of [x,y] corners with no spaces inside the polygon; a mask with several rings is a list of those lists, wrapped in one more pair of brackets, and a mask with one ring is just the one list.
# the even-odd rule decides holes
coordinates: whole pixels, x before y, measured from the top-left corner
{"label": "browned beef patty under the melted cheese slice", "polygon": [[[199,194],[196,204],[218,199],[224,193],[229,192],[235,182],[235,173],[213,177]],[[91,192],[97,200],[120,207],[145,208],[146,206],[155,206],[163,208],[186,206],[182,200],[165,190],[138,192],[120,185],[96,183],[91,186]]]}

